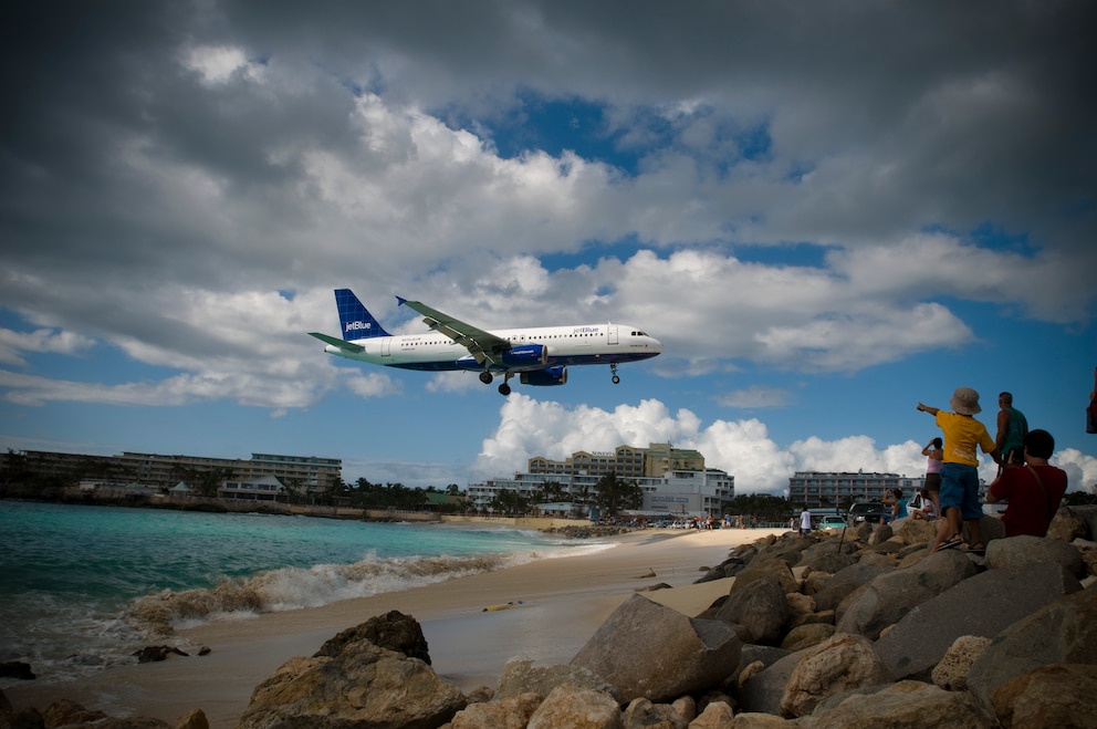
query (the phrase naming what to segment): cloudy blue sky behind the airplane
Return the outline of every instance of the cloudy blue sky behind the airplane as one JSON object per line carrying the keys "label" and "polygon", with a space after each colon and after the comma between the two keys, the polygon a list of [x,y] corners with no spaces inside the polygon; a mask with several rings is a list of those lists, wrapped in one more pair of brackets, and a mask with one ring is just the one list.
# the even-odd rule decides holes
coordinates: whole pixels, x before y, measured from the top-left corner
{"label": "cloudy blue sky behind the airplane", "polygon": [[[0,447],[510,477],[671,442],[782,494],[1010,390],[1097,485],[1097,4],[17,2]],[[503,398],[330,356],[333,290],[664,353]],[[983,459],[981,475],[992,478]]]}

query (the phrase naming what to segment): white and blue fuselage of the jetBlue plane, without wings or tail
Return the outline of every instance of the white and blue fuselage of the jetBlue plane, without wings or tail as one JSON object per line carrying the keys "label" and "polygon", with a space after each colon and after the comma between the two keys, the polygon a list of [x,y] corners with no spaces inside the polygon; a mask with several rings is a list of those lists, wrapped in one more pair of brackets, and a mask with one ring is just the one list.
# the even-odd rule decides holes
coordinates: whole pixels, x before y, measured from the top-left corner
{"label": "white and blue fuselage of the jetBlue plane, without wings or tail", "polygon": [[531,326],[494,330],[495,336],[513,347],[544,346],[542,357],[529,364],[489,363],[485,367],[468,348],[436,332],[351,340],[362,347],[353,352],[328,344],[325,351],[348,360],[370,364],[442,372],[468,369],[482,372],[524,372],[566,365],[620,364],[654,357],[662,352],[658,340],[628,324],[581,324],[576,326]]}

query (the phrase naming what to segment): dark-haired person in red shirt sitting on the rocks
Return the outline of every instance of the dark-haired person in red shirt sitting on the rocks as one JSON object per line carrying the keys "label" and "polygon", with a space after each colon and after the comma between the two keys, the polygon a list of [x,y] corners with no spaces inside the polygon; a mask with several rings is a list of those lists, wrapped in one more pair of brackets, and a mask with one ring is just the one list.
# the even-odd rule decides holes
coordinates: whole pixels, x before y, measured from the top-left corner
{"label": "dark-haired person in red shirt sitting on the rocks", "polygon": [[1009,501],[1002,514],[1006,537],[1045,537],[1066,493],[1066,471],[1047,462],[1055,450],[1047,430],[1031,430],[1023,448],[1025,466],[1002,471],[988,489],[986,502]]}

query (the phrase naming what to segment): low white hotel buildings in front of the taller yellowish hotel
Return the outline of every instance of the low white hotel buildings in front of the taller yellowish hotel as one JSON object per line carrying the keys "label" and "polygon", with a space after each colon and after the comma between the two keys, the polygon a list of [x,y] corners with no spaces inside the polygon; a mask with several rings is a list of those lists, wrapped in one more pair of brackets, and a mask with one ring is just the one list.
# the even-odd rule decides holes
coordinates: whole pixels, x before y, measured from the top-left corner
{"label": "low white hotel buildings in front of the taller yellowish hotel", "polygon": [[[474,511],[491,513],[504,494],[516,496],[542,513],[570,515],[577,519],[591,515],[597,497],[598,480],[605,473],[515,473],[513,478],[490,479],[471,483],[468,489],[469,507]],[[721,515],[735,496],[735,477],[709,468],[703,470],[670,470],[661,476],[617,478],[636,481],[644,494],[640,509],[633,514],[648,517],[704,517]]]}

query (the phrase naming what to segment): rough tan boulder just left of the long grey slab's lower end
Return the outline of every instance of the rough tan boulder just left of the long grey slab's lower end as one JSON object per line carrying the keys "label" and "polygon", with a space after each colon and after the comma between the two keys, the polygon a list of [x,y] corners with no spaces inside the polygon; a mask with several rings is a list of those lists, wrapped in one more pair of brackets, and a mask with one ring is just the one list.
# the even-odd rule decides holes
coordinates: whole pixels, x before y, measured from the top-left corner
{"label": "rough tan boulder just left of the long grey slab's lower end", "polygon": [[891,680],[871,641],[839,633],[804,652],[788,676],[779,708],[782,716],[802,717],[829,696]]}

